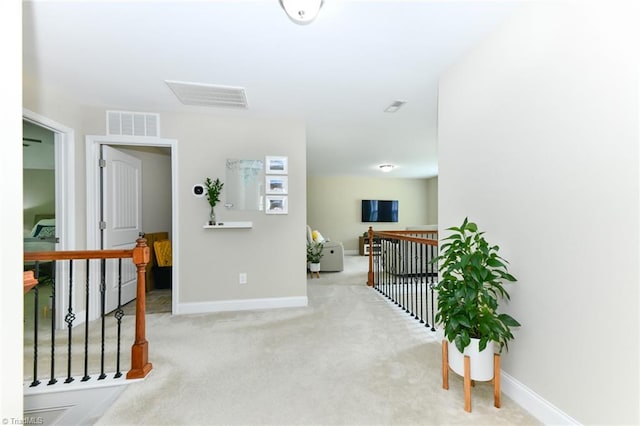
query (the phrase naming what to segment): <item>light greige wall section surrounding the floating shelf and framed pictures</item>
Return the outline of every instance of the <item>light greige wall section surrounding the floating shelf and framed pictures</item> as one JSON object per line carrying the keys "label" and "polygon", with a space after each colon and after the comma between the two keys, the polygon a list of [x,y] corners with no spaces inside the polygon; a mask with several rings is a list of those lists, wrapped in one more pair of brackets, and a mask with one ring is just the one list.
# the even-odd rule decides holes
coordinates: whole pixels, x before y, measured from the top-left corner
{"label": "light greige wall section surrounding the floating shelf and framed pictures", "polygon": [[[161,120],[163,137],[178,140],[180,303],[199,309],[198,303],[219,301],[306,300],[304,123],[196,113],[162,114]],[[219,205],[219,221],[253,221],[253,229],[203,229],[209,204],[192,195],[193,185],[206,177],[224,181],[227,158],[267,155],[288,157],[289,214]],[[240,273],[247,273],[247,284],[238,284]],[[209,309],[205,305],[200,307]]]}

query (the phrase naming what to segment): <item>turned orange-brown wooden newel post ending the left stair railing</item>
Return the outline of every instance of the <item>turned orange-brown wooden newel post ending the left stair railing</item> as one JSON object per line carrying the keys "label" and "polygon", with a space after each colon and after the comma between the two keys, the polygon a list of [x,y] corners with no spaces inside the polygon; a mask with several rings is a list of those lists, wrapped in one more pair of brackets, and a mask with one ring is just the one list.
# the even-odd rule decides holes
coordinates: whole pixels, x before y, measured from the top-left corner
{"label": "turned orange-brown wooden newel post ending the left stair railing", "polygon": [[127,373],[127,379],[140,379],[151,371],[149,362],[149,342],[146,338],[146,283],[145,267],[149,263],[149,247],[147,240],[138,238],[133,249],[133,263],[138,269],[138,286],[136,289],[136,339],[131,346],[131,370]]}

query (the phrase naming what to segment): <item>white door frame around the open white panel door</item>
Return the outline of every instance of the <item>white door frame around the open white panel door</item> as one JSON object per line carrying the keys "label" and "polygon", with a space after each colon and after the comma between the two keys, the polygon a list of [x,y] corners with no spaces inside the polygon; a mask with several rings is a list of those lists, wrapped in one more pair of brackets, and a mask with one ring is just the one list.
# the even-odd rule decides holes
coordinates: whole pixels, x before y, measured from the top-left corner
{"label": "white door frame around the open white panel door", "polygon": [[[148,136],[98,136],[87,135],[85,137],[86,171],[87,171],[87,250],[100,250],[100,146],[148,146],[166,147],[171,151],[171,248],[174,259],[172,267],[171,288],[171,313],[177,312],[178,306],[178,141],[176,139],[164,139]],[[142,195],[144,197],[144,194]],[[92,292],[90,300],[90,312],[99,316],[99,297],[97,292]],[[90,319],[97,318],[93,316]]]}

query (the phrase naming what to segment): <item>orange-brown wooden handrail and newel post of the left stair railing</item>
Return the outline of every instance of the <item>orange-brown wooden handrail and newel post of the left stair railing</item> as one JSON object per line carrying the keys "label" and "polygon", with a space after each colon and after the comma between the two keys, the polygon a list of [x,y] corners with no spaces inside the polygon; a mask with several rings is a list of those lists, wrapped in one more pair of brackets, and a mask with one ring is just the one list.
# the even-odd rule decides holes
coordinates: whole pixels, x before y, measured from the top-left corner
{"label": "orange-brown wooden handrail and newel post of the left stair railing", "polygon": [[[149,263],[147,240],[138,238],[136,246],[130,250],[73,250],[24,253],[25,262],[129,258],[132,259],[137,269],[136,330],[135,340],[131,346],[131,369],[127,372],[126,377],[127,379],[139,379],[145,377],[152,369],[152,364],[149,362],[149,342],[146,339],[145,321],[145,267]],[[25,294],[27,285],[30,285],[30,290],[37,283],[38,281],[33,277],[33,271],[26,271],[24,275]]]}

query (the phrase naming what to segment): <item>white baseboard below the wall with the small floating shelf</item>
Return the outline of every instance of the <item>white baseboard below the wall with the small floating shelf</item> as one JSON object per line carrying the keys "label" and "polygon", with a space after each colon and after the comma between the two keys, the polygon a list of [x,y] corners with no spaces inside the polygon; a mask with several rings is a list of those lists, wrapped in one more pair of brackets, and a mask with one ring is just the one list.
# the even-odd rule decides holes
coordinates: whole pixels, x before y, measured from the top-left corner
{"label": "white baseboard below the wall with the small floating shelf", "polygon": [[306,296],[238,299],[211,302],[178,303],[174,314],[204,314],[213,312],[254,311],[260,309],[300,308],[309,303]]}

